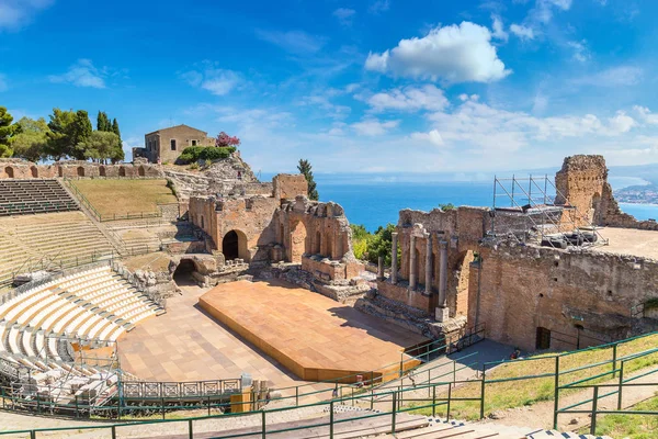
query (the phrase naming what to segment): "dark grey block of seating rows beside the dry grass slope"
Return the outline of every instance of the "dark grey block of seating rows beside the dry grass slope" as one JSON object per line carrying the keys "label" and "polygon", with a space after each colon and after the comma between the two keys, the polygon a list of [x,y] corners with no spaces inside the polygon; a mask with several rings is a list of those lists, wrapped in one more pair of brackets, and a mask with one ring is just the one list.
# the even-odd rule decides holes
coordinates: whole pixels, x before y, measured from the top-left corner
{"label": "dark grey block of seating rows beside the dry grass slope", "polygon": [[0,216],[78,209],[57,180],[0,180]]}

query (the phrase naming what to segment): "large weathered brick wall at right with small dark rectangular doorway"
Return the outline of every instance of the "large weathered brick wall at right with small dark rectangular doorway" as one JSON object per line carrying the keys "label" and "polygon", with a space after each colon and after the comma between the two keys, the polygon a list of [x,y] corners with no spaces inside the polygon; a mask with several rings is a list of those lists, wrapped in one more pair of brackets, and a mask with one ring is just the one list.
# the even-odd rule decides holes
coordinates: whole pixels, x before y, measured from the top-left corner
{"label": "large weathered brick wall at right with small dark rectangular doorway", "polygon": [[535,349],[538,327],[552,331],[552,349],[575,349],[579,331],[581,348],[629,337],[632,307],[658,296],[655,260],[504,244],[479,251],[468,323],[485,323],[487,338],[524,350]]}

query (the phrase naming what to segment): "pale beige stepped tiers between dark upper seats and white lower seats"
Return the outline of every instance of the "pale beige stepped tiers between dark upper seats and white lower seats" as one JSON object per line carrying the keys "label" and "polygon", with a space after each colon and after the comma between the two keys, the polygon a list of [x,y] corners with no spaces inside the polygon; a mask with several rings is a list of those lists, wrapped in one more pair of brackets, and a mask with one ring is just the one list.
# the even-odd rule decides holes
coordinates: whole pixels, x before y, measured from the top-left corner
{"label": "pale beige stepped tiers between dark upper seats and white lower seats", "polygon": [[110,258],[110,240],[82,212],[0,216],[0,286],[12,274]]}

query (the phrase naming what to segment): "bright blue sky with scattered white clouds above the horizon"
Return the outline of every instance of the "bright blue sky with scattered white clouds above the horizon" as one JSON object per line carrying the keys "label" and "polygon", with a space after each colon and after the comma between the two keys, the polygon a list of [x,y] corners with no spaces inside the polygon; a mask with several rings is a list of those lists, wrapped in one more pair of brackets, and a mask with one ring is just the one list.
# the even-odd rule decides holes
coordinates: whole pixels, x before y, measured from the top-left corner
{"label": "bright blue sky with scattered white clouds above the horizon", "polygon": [[0,105],[185,123],[254,170],[658,162],[658,2],[0,0]]}

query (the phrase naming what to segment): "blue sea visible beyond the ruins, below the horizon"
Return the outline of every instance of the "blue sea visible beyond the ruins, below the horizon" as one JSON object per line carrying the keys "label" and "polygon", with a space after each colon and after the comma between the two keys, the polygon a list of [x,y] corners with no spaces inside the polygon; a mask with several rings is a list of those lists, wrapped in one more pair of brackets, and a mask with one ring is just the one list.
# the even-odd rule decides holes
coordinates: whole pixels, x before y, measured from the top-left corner
{"label": "blue sea visible beyond the ruins, below the horizon", "polygon": [[[492,182],[318,182],[321,201],[342,205],[351,224],[363,224],[374,232],[386,223],[397,224],[402,209],[431,211],[440,204],[486,206],[494,203]],[[497,196],[497,205],[510,204]],[[658,205],[620,203],[622,211],[637,219],[658,218]]]}

